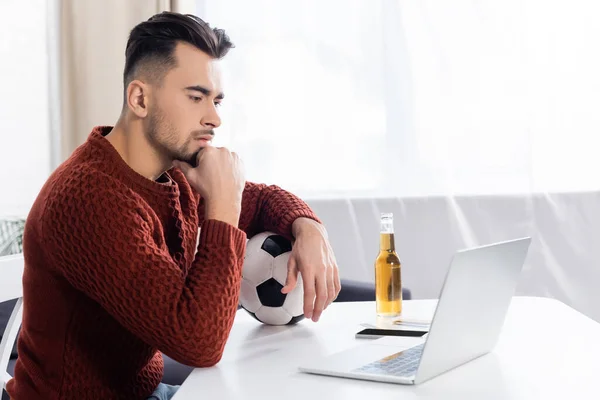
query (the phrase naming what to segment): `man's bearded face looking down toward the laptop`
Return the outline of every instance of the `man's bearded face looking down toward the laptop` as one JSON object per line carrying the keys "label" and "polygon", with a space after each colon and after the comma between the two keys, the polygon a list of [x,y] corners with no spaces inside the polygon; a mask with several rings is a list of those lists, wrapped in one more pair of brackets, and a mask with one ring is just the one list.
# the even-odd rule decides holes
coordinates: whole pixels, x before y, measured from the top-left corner
{"label": "man's bearded face looking down toward the laptop", "polygon": [[177,66],[152,90],[144,130],[162,156],[196,165],[199,151],[210,145],[213,129],[221,125],[218,61],[182,43],[174,55]]}

